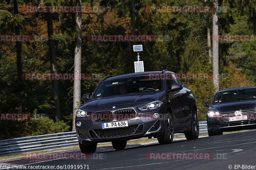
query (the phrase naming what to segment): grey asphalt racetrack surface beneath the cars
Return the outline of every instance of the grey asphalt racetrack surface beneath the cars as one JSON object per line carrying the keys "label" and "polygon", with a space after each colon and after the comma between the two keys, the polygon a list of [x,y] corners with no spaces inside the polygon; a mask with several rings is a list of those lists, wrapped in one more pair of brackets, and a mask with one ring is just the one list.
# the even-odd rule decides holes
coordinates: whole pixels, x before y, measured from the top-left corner
{"label": "grey asphalt racetrack surface beneath the cars", "polygon": [[176,140],[166,145],[127,145],[122,151],[116,151],[112,146],[98,147],[94,155],[87,156],[89,159],[86,160],[55,159],[33,163],[20,159],[7,164],[59,165],[63,169],[71,169],[71,165],[73,169],[75,165],[83,165],[83,169],[256,169],[256,131],[201,137],[191,141]]}

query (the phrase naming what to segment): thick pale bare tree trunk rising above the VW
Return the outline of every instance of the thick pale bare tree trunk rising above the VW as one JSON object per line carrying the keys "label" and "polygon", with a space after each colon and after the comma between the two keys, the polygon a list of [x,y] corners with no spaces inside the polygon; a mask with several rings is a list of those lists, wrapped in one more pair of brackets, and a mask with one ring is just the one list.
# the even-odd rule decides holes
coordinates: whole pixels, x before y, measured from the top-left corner
{"label": "thick pale bare tree trunk rising above the VW", "polygon": [[218,26],[218,0],[213,0],[212,17],[212,77],[214,92],[219,91],[219,26]]}

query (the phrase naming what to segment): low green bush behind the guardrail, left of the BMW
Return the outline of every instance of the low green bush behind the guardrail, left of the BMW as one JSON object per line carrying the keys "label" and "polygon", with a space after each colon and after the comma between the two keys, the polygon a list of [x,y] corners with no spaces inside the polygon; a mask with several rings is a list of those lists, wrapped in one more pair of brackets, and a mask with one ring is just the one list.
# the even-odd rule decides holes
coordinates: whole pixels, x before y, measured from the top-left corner
{"label": "low green bush behind the guardrail, left of the BMW", "polygon": [[29,124],[31,136],[69,131],[70,126],[63,121],[54,122],[49,117],[32,119]]}

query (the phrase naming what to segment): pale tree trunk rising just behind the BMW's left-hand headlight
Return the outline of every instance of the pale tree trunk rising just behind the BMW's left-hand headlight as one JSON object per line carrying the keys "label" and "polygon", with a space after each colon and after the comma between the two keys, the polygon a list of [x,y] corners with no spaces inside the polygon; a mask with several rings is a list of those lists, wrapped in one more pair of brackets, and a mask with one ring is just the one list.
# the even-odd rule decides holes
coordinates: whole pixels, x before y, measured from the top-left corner
{"label": "pale tree trunk rising just behind the BMW's left-hand headlight", "polygon": [[[81,0],[76,0],[76,6],[81,6]],[[74,73],[81,74],[81,58],[82,58],[82,13],[76,12],[76,48],[74,58]],[[74,76],[76,77],[76,76]],[[79,76],[80,77],[80,76]],[[73,126],[72,130],[76,130],[76,111],[80,106],[81,101],[81,80],[74,80],[74,94],[73,94]]]}

